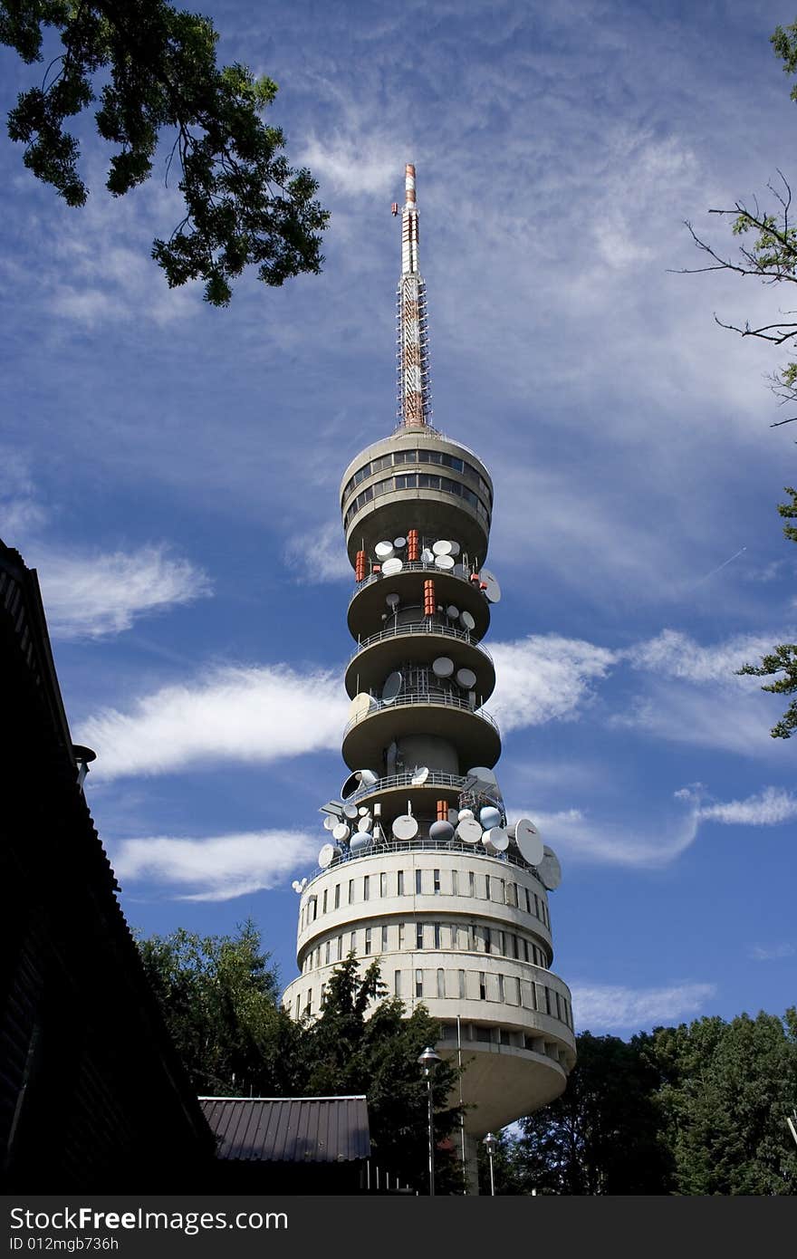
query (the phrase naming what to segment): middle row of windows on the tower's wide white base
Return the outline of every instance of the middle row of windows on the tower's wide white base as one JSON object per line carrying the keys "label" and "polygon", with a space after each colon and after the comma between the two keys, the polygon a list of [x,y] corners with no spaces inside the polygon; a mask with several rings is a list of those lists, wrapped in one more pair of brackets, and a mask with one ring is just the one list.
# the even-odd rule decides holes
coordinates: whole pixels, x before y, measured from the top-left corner
{"label": "middle row of windows on the tower's wide white base", "polygon": [[414,949],[453,949],[460,953],[492,953],[512,957],[517,962],[530,962],[548,969],[549,957],[534,940],[515,932],[477,923],[383,923],[382,927],[364,927],[341,932],[322,944],[310,949],[302,963],[302,974],[320,966],[332,966],[348,953],[370,957],[374,953]]}

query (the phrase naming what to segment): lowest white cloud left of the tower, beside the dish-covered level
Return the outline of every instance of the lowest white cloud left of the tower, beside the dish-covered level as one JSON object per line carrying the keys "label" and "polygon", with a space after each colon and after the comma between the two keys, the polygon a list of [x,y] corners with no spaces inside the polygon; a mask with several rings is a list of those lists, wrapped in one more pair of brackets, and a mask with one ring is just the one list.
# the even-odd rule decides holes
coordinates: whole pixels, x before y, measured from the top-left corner
{"label": "lowest white cloud left of the tower, beside the dish-covered level", "polygon": [[120,880],[157,884],[179,900],[232,900],[282,885],[312,860],[319,840],[303,831],[246,831],[201,840],[154,836],[112,850]]}

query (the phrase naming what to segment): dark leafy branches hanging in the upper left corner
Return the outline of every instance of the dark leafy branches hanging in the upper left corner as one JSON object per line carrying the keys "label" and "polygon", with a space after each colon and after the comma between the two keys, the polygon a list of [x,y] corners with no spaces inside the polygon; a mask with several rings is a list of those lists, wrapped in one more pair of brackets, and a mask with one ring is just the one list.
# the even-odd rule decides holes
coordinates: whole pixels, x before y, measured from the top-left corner
{"label": "dark leafy branches hanging in the upper left corner", "polygon": [[317,184],[288,166],[282,131],[262,118],[277,86],[246,65],[219,68],[208,18],[165,0],[0,0],[0,42],[25,63],[44,59],[50,28],[63,52],[9,113],[9,135],[38,179],[68,205],[86,203],[65,123],[98,101],[97,131],[116,146],[106,184],[115,196],[150,178],[167,133],[166,172],[176,162],[185,215],[152,257],[170,287],[201,278],[206,301],[225,306],[249,263],[267,285],[321,269],[329,214],[314,199]]}

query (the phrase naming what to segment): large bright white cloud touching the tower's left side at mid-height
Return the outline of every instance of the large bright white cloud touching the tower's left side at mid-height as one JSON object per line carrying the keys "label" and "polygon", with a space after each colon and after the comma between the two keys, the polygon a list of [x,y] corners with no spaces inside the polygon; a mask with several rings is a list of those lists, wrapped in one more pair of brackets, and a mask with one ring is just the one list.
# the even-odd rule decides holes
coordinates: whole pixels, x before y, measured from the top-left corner
{"label": "large bright white cloud touching the tower's left side at mid-height", "polygon": [[130,713],[103,709],[83,721],[78,739],[97,752],[98,781],[334,749],[345,718],[336,674],[228,666],[145,695]]}

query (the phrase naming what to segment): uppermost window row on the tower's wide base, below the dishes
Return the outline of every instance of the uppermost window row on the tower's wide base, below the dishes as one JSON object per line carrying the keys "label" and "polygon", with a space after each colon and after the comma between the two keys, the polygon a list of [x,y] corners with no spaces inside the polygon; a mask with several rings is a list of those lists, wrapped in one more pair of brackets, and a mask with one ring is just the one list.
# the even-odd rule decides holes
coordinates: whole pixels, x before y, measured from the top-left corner
{"label": "uppermost window row on the tower's wide base, below the dishes", "polygon": [[[342,901],[341,890],[345,895]],[[365,874],[358,879],[348,879],[342,884],[336,883],[334,888],[325,888],[320,898],[319,895],[307,898],[298,915],[298,929],[302,932],[310,923],[315,923],[320,914],[340,909],[341,904],[358,905],[364,900],[407,895],[471,896],[473,900],[492,900],[511,909],[525,909],[550,929],[545,899],[519,883],[495,874],[477,874],[475,870],[434,869],[415,869],[414,879],[412,870],[390,872],[383,870],[378,875]]]}

